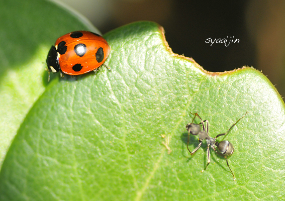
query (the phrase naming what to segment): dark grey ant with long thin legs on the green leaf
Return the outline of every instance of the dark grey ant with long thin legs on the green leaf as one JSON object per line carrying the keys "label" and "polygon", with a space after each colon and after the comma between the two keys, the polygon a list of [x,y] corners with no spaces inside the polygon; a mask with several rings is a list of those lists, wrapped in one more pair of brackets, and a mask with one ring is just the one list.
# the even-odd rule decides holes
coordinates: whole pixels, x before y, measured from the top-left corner
{"label": "dark grey ant with long thin legs on the green leaf", "polygon": [[[188,151],[191,153],[191,155],[193,155],[202,145],[202,142],[203,140],[206,140],[206,143],[207,143],[207,158],[208,158],[208,163],[205,167],[204,170],[206,170],[207,166],[210,164],[210,146],[214,149],[214,151],[219,154],[220,156],[223,156],[226,161],[227,161],[227,165],[228,167],[230,168],[229,166],[229,162],[228,162],[228,159],[227,157],[228,156],[231,156],[233,153],[234,153],[234,146],[232,143],[230,143],[229,141],[225,140],[225,141],[221,141],[221,142],[218,142],[217,141],[217,138],[220,137],[220,136],[226,136],[229,134],[229,132],[232,130],[232,128],[247,114],[248,112],[246,112],[236,123],[234,123],[231,128],[226,132],[226,133],[221,133],[219,135],[217,135],[215,138],[211,138],[209,136],[209,121],[208,120],[205,120],[203,121],[202,118],[197,114],[197,113],[191,113],[192,115],[195,115],[195,117],[193,118],[192,122],[187,124],[186,125],[186,130],[188,131],[188,141],[187,141],[187,149]],[[194,124],[194,120],[195,118],[198,117],[200,120],[201,120],[201,123],[199,124]],[[205,123],[206,123],[206,127],[205,127]],[[201,125],[202,124],[202,127],[203,127],[203,131],[201,131]],[[189,136],[190,134],[192,135],[198,135],[199,138],[199,145],[191,152],[188,148],[188,144],[189,144]],[[217,147],[217,149],[219,151],[216,150],[215,146]],[[202,172],[204,172],[204,170],[202,170]],[[235,175],[232,171],[232,169],[230,168],[231,172],[232,172],[232,175],[234,177],[234,180],[235,180]]]}

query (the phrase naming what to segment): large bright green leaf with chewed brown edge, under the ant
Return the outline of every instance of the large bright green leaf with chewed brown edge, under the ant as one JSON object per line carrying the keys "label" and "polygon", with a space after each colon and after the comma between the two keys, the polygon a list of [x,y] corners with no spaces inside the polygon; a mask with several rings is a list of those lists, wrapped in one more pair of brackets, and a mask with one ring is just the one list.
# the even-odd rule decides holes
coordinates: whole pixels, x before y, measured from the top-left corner
{"label": "large bright green leaf with chewed brown edge, under the ant", "polygon": [[[151,22],[104,37],[112,70],[48,84],[7,153],[0,200],[284,197],[284,103],[263,74],[248,67],[206,72],[173,54]],[[235,147],[229,158],[235,181],[213,150],[201,173],[207,145],[188,153],[183,130],[190,112],[209,120],[211,137],[248,112],[225,138]],[[193,150],[199,142],[190,139]]]}

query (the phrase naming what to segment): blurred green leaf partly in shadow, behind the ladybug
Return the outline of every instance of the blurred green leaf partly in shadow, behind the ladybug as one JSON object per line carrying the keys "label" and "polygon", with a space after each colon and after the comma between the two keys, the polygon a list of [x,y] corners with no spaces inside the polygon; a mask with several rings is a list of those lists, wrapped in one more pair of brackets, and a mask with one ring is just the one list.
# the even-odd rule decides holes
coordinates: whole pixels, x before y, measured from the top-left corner
{"label": "blurred green leaf partly in shadow, behind the ladybug", "polygon": [[1,167],[20,124],[45,90],[50,46],[70,31],[98,30],[47,1],[0,1],[0,19]]}

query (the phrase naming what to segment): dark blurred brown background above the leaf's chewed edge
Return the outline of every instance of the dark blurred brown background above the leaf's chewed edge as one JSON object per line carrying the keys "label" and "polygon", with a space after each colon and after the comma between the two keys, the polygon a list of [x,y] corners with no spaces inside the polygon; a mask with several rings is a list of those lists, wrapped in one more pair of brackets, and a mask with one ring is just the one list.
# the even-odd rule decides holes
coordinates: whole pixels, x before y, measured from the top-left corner
{"label": "dark blurred brown background above the leaf's chewed edge", "polygon": [[[285,95],[285,1],[61,0],[103,34],[140,20],[165,30],[174,53],[212,72],[253,66]],[[235,37],[239,43],[206,43]]]}

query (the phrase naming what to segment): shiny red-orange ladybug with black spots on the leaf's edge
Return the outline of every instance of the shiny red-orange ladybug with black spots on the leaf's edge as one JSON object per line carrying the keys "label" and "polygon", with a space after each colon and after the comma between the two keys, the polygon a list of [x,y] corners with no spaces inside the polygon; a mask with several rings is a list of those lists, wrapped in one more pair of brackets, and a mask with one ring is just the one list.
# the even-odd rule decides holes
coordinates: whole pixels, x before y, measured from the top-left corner
{"label": "shiny red-orange ladybug with black spots on the leaf's edge", "polygon": [[106,61],[110,46],[100,35],[88,31],[75,31],[59,37],[47,56],[49,72],[81,75],[97,71]]}

